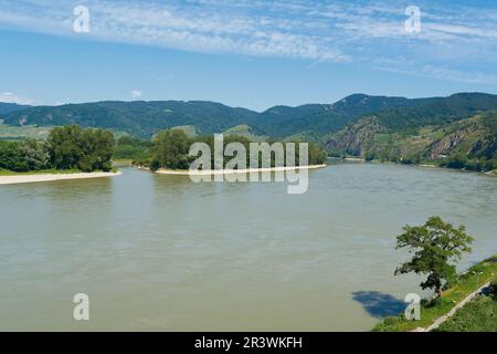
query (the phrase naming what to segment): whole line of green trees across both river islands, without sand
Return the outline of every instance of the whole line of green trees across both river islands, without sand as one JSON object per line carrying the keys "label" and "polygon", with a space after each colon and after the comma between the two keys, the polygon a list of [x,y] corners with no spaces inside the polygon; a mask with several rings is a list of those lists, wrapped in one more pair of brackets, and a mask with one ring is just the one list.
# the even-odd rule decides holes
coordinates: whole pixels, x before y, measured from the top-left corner
{"label": "whole line of green trees across both river islands, without sand", "polygon": [[[189,156],[193,143],[205,143],[214,150],[214,136],[188,137],[181,129],[168,129],[158,133],[152,139],[139,139],[124,136],[114,139],[112,132],[98,128],[82,128],[78,125],[54,127],[46,142],[27,139],[20,142],[0,140],[0,169],[12,171],[67,170],[82,171],[112,169],[112,159],[131,159],[135,165],[159,168],[188,169],[197,157]],[[252,143],[244,136],[226,135],[224,147],[230,143],[241,143],[246,152]],[[276,143],[275,140],[268,144]],[[285,148],[285,144],[283,144]],[[298,142],[295,146],[295,164],[299,164]],[[247,154],[246,166],[250,165]],[[326,150],[308,143],[308,164],[319,165],[327,157]],[[212,158],[214,158],[212,156]],[[232,157],[225,157],[224,163]],[[272,166],[275,165],[272,154]],[[260,158],[260,165],[262,158]]]}

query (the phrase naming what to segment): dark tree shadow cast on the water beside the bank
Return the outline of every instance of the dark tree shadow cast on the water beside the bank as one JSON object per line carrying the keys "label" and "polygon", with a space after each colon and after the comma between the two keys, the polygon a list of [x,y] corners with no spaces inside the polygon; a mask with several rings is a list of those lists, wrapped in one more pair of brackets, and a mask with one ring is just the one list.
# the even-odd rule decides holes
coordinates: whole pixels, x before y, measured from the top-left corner
{"label": "dark tree shadow cast on the water beside the bank", "polygon": [[402,300],[379,291],[356,291],[352,292],[352,299],[376,319],[399,315],[408,306]]}

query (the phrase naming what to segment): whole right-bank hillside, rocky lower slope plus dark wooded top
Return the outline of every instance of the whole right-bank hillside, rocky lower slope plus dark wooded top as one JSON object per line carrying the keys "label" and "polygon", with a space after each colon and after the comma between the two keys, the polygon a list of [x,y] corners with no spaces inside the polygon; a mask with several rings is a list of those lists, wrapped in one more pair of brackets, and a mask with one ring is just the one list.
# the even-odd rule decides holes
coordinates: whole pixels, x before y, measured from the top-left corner
{"label": "whole right-bank hillside, rocky lower slope plus dark wooded top", "polygon": [[461,94],[388,110],[349,124],[325,144],[335,156],[491,170],[497,168],[495,104],[491,96]]}

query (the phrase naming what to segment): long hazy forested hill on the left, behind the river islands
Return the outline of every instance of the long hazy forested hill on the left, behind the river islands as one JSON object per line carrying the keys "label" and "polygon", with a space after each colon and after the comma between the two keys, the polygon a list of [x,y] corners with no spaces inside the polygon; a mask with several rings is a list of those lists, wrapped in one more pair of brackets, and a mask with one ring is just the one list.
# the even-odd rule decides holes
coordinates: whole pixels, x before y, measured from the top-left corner
{"label": "long hazy forested hill on the left, behind the river islands", "polygon": [[54,126],[78,124],[128,132],[138,136],[175,126],[194,125],[198,132],[213,133],[251,122],[257,113],[214,102],[117,102],[106,101],[61,106],[39,106],[4,116],[9,125]]}

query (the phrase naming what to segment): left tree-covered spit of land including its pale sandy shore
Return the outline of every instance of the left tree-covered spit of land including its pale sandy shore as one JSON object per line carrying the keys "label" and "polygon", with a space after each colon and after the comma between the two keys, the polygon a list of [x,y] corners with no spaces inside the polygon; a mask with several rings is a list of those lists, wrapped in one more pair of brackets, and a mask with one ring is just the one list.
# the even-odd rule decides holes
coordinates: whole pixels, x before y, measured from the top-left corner
{"label": "left tree-covered spit of land including its pale sandy shore", "polygon": [[54,127],[46,142],[0,140],[0,185],[117,176],[114,135],[78,125]]}

